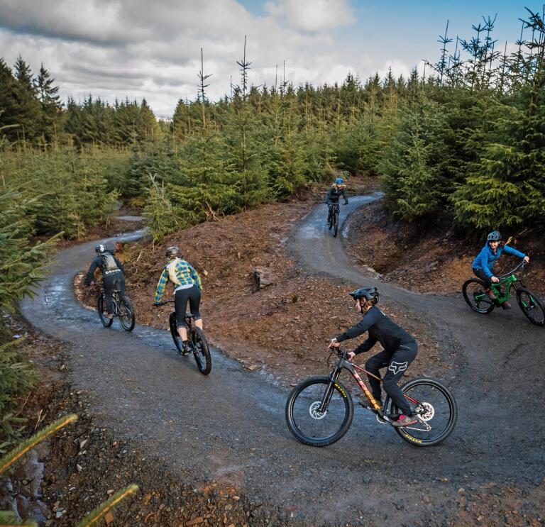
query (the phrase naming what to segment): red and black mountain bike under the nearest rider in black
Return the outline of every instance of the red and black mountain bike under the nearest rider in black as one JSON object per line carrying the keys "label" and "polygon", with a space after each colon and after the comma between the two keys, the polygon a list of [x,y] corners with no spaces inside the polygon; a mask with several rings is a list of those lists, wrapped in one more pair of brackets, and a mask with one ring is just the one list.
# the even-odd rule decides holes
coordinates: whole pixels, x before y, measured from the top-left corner
{"label": "red and black mountain bike under the nearest rider in black", "polygon": [[[292,434],[305,445],[326,446],[341,439],[352,424],[354,404],[351,393],[338,378],[348,370],[370,403],[379,423],[392,424],[401,412],[387,397],[384,407],[363,384],[358,371],[371,374],[347,360],[348,353],[333,348],[337,365],[324,377],[309,377],[300,382],[286,401],[286,421]],[[331,355],[330,355],[331,356]],[[358,370],[358,371],[357,371]],[[375,377],[382,382],[382,379]],[[456,400],[443,384],[434,379],[412,379],[401,387],[418,423],[395,428],[402,439],[415,446],[438,445],[453,431],[458,418]]]}

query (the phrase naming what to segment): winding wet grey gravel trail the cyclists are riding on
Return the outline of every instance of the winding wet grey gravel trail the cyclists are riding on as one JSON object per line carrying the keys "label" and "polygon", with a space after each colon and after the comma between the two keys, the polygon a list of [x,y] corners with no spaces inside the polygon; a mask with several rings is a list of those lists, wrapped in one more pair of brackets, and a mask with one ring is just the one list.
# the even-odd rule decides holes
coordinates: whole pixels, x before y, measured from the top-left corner
{"label": "winding wet grey gravel trail the cyclists are riding on", "polygon": [[[377,197],[351,199],[341,221]],[[543,473],[536,467],[544,462],[545,415],[535,401],[544,333],[516,312],[485,324],[461,300],[366,277],[326,231],[324,207],[309,213],[288,242],[302,267],[377,284],[385,304],[431,323],[436,338],[458,353],[457,369],[443,379],[458,398],[458,427],[440,447],[412,448],[360,408],[343,440],[324,449],[304,447],[285,426],[285,389],[217,352],[212,374],[202,377],[172,353],[170,335],[155,328],[102,330],[72,291],[73,275],[96,242],[62,251],[35,299],[23,302],[23,313],[40,331],[72,344],[72,382],[92,394],[105,425],[186,480],[199,475],[233,484],[255,503],[285,511],[294,525],[434,525],[447,519],[470,525],[481,514],[503,522],[505,507],[481,503],[492,488],[505,496],[507,508],[513,500],[530,500],[533,512],[524,513],[537,521],[544,506],[536,487]],[[524,422],[521,409],[530,405],[532,420]]]}

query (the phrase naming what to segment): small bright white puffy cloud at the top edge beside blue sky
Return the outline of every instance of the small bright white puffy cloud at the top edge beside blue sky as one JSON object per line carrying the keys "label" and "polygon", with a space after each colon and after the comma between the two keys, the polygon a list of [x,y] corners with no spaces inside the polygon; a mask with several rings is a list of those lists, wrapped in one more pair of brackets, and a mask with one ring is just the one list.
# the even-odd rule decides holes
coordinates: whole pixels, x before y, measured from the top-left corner
{"label": "small bright white puffy cloud at the top edge beside blue sky", "polygon": [[346,0],[277,0],[268,1],[265,9],[292,28],[304,31],[327,31],[355,21]]}

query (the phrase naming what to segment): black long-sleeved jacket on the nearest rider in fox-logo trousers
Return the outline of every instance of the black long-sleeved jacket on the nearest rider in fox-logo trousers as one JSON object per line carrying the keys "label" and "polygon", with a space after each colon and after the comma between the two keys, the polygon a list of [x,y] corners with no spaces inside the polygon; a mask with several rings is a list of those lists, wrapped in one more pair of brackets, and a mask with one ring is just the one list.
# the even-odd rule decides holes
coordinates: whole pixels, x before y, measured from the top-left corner
{"label": "black long-sleeved jacket on the nearest rider in fox-logo trousers", "polygon": [[356,338],[363,335],[365,331],[369,332],[368,339],[361,343],[354,353],[363,353],[369,351],[373,346],[380,342],[386,351],[394,352],[404,344],[416,344],[417,341],[404,329],[397,326],[391,318],[387,317],[377,306],[369,309],[363,318],[350,329],[347,329],[341,335],[338,335],[337,342]]}

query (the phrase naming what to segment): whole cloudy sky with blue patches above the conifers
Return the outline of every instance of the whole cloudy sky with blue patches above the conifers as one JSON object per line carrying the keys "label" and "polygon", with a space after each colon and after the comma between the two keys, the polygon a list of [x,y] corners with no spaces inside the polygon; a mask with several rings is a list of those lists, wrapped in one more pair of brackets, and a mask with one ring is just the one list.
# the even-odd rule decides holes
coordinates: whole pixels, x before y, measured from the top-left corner
{"label": "whole cloudy sky with blue patches above the conifers", "polygon": [[[535,5],[533,5],[535,4]],[[197,95],[200,49],[209,99],[238,81],[248,37],[253,84],[274,84],[276,65],[295,85],[366,78],[392,67],[407,75],[436,61],[438,35],[470,38],[497,13],[495,38],[513,42],[535,0],[0,0],[0,57],[40,63],[62,99],[145,97],[158,116]]]}

